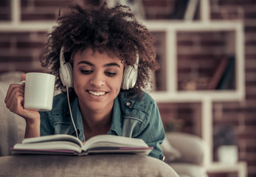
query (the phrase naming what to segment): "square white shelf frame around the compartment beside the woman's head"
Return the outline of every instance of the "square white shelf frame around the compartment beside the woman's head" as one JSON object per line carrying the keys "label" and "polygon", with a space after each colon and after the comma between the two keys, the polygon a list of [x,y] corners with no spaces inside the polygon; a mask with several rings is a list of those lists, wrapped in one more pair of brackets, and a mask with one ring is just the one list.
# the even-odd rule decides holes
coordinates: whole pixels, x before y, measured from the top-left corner
{"label": "square white shelf frame around the compartment beside the woman's head", "polygon": [[[243,100],[244,88],[244,36],[243,36],[243,23],[241,21],[145,21],[146,26],[153,33],[164,36],[161,49],[165,52],[160,61],[162,62],[161,80],[164,80],[164,89],[159,91],[152,91],[151,95],[156,102],[167,102],[173,100],[181,101],[198,101],[204,100],[208,97],[212,100],[229,101],[229,100]],[[221,32],[231,31],[235,35],[234,55],[235,55],[235,90],[210,90],[210,91],[178,91],[178,47],[177,47],[177,33],[181,31],[193,32]],[[161,56],[160,56],[161,57]],[[161,63],[160,63],[161,64]],[[161,69],[160,69],[161,70]],[[166,77],[167,76],[167,77]],[[159,80],[157,80],[159,82]],[[156,82],[155,82],[156,83]],[[161,87],[161,88],[162,88]],[[187,99],[186,99],[187,97]]]}

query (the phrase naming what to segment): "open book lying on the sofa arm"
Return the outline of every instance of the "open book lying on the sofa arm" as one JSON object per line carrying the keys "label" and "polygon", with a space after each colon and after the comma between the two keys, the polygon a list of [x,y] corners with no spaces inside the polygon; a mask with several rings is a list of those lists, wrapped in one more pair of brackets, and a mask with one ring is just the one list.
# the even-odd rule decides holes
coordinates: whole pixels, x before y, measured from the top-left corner
{"label": "open book lying on the sofa arm", "polygon": [[66,134],[24,139],[12,148],[13,154],[58,154],[83,156],[91,153],[136,153],[147,156],[153,147],[142,139],[114,135],[94,136],[83,145],[80,139]]}

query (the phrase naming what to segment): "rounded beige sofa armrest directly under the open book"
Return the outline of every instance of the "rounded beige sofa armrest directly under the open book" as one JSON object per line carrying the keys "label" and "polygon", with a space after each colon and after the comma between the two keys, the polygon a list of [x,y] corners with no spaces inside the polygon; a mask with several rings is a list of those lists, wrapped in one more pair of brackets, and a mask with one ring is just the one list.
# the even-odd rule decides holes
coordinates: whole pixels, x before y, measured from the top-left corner
{"label": "rounded beige sofa armrest directly under the open book", "polygon": [[165,162],[150,156],[4,156],[0,176],[170,176],[179,177]]}

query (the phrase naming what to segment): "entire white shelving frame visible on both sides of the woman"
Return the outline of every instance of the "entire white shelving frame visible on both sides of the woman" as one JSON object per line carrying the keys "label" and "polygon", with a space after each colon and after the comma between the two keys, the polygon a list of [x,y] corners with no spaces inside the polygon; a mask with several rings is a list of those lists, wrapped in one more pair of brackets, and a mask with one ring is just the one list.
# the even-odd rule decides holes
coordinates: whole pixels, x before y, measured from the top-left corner
{"label": "entire white shelving frame visible on both sides of the woman", "polygon": [[[55,23],[49,21],[21,21],[21,2],[11,0],[11,21],[0,22],[0,32],[46,31],[50,32]],[[244,99],[244,36],[242,21],[211,21],[209,0],[200,0],[200,21],[143,21],[152,32],[165,32],[166,35],[166,91],[155,91],[151,96],[162,103],[200,102],[202,138],[207,142],[207,156],[204,165],[209,172],[237,171],[239,177],[246,177],[246,164],[239,162],[227,167],[212,162],[212,102],[240,101]],[[179,31],[235,31],[235,91],[178,91],[177,90],[177,46]]]}

